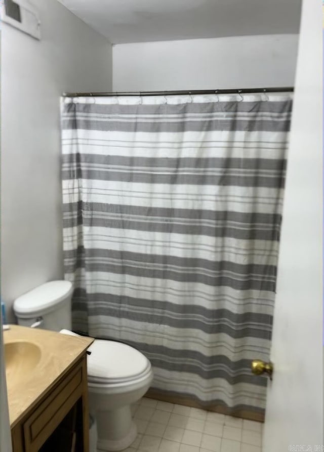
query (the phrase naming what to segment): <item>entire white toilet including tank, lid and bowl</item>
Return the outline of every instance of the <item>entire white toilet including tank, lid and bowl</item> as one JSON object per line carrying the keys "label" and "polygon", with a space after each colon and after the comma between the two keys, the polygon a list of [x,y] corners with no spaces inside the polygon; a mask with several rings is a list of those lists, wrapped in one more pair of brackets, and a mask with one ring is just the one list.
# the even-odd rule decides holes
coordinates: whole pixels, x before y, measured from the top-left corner
{"label": "entire white toilet including tank, lid and bowl", "polygon": [[[51,281],[14,301],[18,325],[75,335],[71,329],[72,284]],[[97,424],[97,450],[126,449],[137,435],[131,404],[150,387],[150,361],[127,344],[96,339],[87,357],[90,414]],[[91,449],[90,449],[91,450]],[[91,452],[95,452],[92,446]]]}

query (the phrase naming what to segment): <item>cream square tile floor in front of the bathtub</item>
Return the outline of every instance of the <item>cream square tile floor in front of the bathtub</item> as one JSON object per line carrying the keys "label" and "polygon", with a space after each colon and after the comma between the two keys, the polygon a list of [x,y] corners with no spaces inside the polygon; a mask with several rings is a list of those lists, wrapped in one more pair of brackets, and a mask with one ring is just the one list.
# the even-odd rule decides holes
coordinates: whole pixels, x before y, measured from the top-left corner
{"label": "cream square tile floor in front of the bathtub", "polygon": [[143,397],[125,452],[261,452],[262,424]]}

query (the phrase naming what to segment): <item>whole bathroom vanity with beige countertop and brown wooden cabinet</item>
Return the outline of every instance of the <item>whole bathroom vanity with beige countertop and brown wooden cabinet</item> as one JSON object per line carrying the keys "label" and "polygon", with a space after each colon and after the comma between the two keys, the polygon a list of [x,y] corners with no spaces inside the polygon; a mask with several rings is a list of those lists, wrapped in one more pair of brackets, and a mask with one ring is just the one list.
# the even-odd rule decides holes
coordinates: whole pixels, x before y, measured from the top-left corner
{"label": "whole bathroom vanity with beige countertop and brown wooden cabinet", "polygon": [[[93,339],[13,325],[4,342],[5,351],[16,352],[6,360],[13,452],[89,452],[87,349]],[[31,368],[34,355],[19,350],[35,347]]]}

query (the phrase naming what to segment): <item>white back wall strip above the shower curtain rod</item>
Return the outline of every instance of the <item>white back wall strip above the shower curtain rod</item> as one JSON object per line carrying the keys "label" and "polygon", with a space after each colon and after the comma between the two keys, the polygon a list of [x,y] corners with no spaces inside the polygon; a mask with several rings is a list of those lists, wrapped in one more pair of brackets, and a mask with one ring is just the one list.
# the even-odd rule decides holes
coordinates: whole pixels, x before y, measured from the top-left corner
{"label": "white back wall strip above the shower curtain rod", "polygon": [[113,91],[294,84],[298,35],[241,36],[113,46]]}

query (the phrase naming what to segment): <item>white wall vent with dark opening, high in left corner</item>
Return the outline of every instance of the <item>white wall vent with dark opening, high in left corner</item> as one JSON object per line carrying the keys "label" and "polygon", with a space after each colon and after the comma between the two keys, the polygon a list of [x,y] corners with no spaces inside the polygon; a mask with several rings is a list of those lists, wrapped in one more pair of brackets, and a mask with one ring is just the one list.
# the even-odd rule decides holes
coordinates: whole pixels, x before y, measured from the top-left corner
{"label": "white wall vent with dark opening, high in left corner", "polygon": [[37,9],[27,0],[2,0],[1,19],[9,25],[41,39],[41,22]]}

